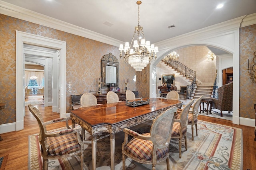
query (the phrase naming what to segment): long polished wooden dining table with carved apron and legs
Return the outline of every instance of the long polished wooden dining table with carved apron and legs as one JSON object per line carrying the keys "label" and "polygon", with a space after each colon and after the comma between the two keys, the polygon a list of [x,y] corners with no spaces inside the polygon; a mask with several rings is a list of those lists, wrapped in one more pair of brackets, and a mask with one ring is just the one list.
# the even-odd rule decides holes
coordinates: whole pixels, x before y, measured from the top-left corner
{"label": "long polished wooden dining table with carved apron and legs", "polygon": [[[132,107],[126,106],[126,102],[123,101],[70,110],[70,118],[72,119],[73,128],[77,123],[92,136],[93,170],[96,170],[97,135],[104,132],[110,134],[111,170],[114,170],[115,134],[124,128],[154,119],[173,106],[182,107],[182,102],[164,98],[150,98],[149,104]],[[82,136],[84,139],[84,133],[82,133]]]}

